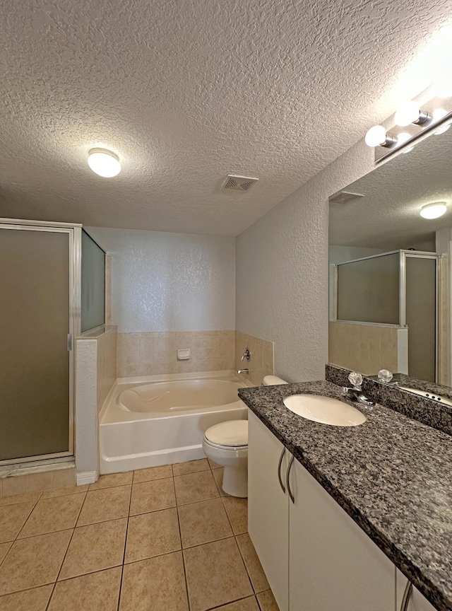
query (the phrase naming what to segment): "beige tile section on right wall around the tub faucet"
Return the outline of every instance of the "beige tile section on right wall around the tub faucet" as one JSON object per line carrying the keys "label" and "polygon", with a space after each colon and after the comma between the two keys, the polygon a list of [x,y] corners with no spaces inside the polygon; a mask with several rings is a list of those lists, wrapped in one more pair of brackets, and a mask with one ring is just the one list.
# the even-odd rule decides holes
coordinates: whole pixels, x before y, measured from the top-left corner
{"label": "beige tile section on right wall around the tub faucet", "polygon": [[[250,351],[251,359],[242,361],[246,348]],[[235,371],[246,368],[249,369],[249,374],[240,373],[239,378],[243,378],[253,386],[260,386],[263,376],[273,376],[273,342],[236,331]]]}

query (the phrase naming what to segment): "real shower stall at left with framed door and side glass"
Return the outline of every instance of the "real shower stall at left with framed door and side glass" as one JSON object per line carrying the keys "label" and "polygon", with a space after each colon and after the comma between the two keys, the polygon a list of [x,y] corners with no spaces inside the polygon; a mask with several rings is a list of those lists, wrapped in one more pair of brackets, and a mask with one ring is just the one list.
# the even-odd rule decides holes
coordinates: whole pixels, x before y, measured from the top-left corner
{"label": "real shower stall at left with framed door and side glass", "polygon": [[0,219],[0,471],[73,460],[73,339],[105,323],[105,252],[81,225]]}

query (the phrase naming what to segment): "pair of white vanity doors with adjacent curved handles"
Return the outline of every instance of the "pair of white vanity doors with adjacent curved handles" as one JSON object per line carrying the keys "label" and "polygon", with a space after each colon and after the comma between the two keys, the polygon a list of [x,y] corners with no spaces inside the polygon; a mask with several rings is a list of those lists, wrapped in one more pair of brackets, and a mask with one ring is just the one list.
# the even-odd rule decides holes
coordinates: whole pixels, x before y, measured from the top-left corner
{"label": "pair of white vanity doors with adjacent curved handles", "polygon": [[253,414],[249,535],[280,611],[395,611],[396,567]]}

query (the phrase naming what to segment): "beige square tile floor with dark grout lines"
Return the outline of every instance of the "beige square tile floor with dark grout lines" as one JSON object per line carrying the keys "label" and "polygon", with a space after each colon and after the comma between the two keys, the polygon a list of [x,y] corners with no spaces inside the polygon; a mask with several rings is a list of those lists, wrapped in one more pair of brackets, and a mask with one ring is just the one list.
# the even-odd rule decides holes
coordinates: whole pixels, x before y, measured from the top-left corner
{"label": "beige square tile floor with dark grout lines", "polygon": [[0,611],[278,611],[207,459],[0,499]]}

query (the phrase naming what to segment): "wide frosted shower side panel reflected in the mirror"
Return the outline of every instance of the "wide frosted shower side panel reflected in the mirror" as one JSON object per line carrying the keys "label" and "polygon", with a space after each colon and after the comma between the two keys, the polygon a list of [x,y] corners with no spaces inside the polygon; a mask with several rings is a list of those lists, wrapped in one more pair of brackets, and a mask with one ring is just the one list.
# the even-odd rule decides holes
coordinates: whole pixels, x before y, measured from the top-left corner
{"label": "wide frosted shower side panel reflected in the mirror", "polygon": [[338,320],[399,323],[398,252],[338,265]]}

